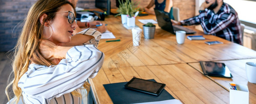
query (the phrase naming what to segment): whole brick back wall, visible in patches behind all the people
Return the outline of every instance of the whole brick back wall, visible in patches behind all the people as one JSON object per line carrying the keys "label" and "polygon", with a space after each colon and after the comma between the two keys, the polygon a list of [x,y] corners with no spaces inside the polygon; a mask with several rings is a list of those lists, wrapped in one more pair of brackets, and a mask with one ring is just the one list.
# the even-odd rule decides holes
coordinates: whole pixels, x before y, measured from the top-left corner
{"label": "whole brick back wall, visible in patches behind all the people", "polygon": [[[0,0],[0,52],[13,49],[29,8],[36,0]],[[150,0],[136,0],[140,7],[146,7]],[[111,7],[115,7],[111,0]],[[95,0],[78,0],[78,7],[95,8]],[[180,19],[186,19],[195,14],[195,0],[173,0],[173,6],[180,9]]]}

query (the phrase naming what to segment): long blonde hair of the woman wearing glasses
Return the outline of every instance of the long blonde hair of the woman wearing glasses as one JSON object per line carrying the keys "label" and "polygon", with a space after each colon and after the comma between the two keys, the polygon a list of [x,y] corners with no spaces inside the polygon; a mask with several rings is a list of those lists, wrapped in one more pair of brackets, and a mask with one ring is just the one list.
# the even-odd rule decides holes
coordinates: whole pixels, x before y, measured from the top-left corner
{"label": "long blonde hair of the woman wearing glasses", "polygon": [[[14,101],[18,103],[22,96],[22,90],[18,87],[18,82],[22,75],[28,71],[29,61],[33,61],[36,64],[43,66],[51,66],[49,60],[45,59],[39,50],[40,39],[43,34],[43,25],[47,20],[54,20],[55,12],[57,12],[61,6],[70,4],[76,14],[75,7],[67,0],[38,0],[28,11],[28,15],[25,18],[22,32],[19,36],[16,46],[14,47],[14,60],[12,64],[14,79],[10,81],[5,89],[8,100],[10,101],[10,95],[8,88],[12,85],[14,93]],[[40,16],[47,14],[48,16],[40,23]],[[11,77],[11,76],[10,76]],[[10,78],[9,77],[9,78]],[[90,90],[90,84],[85,82],[84,88],[87,92]],[[81,97],[81,94],[74,90],[72,95]]]}

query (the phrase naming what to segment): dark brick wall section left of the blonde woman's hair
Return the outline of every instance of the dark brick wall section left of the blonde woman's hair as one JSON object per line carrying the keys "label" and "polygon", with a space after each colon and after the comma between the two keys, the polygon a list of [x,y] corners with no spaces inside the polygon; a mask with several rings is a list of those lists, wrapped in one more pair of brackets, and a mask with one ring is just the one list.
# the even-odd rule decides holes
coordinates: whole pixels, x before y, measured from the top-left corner
{"label": "dark brick wall section left of the blonde woman's hair", "polygon": [[14,47],[31,5],[36,0],[1,0],[0,1],[0,52]]}

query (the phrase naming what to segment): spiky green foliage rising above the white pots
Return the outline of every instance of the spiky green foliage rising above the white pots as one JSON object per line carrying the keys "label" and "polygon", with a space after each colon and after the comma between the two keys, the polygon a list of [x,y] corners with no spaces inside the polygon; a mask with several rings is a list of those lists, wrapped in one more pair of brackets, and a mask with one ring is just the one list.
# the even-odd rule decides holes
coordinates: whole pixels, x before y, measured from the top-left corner
{"label": "spiky green foliage rising above the white pots", "polygon": [[121,2],[120,0],[119,1],[119,8],[117,10],[117,12],[119,12],[119,14],[115,15],[115,16],[120,16],[122,14],[124,15],[129,15],[130,17],[131,16],[134,16],[135,15],[135,12],[137,12],[140,8],[138,8],[138,3],[137,2],[133,2],[133,1],[129,1],[129,0],[126,0],[125,2]]}

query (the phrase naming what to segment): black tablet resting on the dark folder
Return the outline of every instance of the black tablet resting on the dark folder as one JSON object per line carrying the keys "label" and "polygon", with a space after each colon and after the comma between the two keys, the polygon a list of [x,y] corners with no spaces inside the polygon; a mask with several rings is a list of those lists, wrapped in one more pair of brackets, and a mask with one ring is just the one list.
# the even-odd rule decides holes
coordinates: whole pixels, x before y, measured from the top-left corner
{"label": "black tablet resting on the dark folder", "polygon": [[165,84],[134,77],[124,87],[158,96],[164,89]]}

